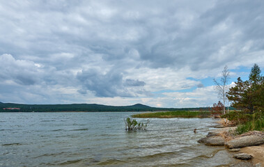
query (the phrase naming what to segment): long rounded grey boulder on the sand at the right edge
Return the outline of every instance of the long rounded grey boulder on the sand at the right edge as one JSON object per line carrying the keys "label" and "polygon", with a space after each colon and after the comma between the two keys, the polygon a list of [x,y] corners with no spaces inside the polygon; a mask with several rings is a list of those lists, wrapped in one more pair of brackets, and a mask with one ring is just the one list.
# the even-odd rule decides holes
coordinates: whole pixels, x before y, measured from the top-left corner
{"label": "long rounded grey boulder on the sand at the right edge", "polygon": [[226,143],[228,148],[244,148],[251,145],[261,145],[264,143],[264,138],[261,136],[251,135],[234,138]]}

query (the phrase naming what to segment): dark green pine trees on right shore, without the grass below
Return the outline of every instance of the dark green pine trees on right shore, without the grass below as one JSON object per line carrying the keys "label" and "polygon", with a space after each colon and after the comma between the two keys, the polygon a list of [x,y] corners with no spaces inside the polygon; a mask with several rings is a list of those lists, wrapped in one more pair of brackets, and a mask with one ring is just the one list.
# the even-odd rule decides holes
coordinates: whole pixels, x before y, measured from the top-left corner
{"label": "dark green pine trees on right shore, without the grass below", "polygon": [[248,81],[242,81],[240,77],[235,86],[228,91],[228,100],[237,109],[254,113],[264,111],[264,77],[258,65],[251,68]]}

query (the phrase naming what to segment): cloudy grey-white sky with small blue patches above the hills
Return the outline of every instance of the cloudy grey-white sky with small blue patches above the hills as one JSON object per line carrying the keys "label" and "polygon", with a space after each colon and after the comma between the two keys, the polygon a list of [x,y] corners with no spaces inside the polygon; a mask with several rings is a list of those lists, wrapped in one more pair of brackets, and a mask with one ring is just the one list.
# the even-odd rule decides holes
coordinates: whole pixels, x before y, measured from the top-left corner
{"label": "cloudy grey-white sky with small blue patches above the hills", "polygon": [[264,1],[0,0],[0,102],[185,108],[264,67]]}

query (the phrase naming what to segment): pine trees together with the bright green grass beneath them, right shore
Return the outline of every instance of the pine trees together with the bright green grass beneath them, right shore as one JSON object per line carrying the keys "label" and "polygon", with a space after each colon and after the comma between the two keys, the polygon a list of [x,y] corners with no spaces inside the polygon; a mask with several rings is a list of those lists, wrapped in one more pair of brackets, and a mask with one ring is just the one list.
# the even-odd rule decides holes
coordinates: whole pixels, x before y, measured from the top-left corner
{"label": "pine trees together with the bright green grass beneath them, right shore", "polygon": [[230,88],[228,100],[233,101],[232,106],[241,109],[241,112],[230,112],[222,118],[228,118],[233,124],[238,125],[237,134],[253,130],[264,130],[264,77],[261,68],[254,64],[251,68],[248,81],[240,77],[235,82],[236,86]]}

